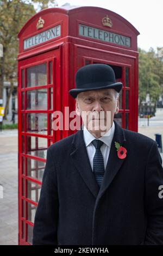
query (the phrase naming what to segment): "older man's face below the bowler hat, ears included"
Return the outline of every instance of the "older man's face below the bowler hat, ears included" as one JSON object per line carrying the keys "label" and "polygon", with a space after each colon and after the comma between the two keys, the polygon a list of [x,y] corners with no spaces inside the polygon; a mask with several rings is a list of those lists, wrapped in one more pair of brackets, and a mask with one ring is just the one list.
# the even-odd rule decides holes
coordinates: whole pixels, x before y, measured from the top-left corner
{"label": "older man's face below the bowler hat, ears included", "polygon": [[81,115],[87,130],[99,138],[112,126],[119,111],[119,98],[114,89],[90,90],[78,94],[76,113]]}

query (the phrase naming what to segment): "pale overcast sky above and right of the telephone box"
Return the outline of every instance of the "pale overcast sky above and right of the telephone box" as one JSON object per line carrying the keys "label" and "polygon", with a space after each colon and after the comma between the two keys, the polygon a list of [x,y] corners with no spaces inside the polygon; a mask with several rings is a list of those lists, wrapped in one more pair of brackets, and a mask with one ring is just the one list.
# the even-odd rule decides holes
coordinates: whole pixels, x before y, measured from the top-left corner
{"label": "pale overcast sky above and right of the telephone box", "polygon": [[96,6],[114,11],[128,20],[139,32],[138,46],[148,51],[150,47],[163,47],[163,1],[162,0],[57,0],[62,4]]}

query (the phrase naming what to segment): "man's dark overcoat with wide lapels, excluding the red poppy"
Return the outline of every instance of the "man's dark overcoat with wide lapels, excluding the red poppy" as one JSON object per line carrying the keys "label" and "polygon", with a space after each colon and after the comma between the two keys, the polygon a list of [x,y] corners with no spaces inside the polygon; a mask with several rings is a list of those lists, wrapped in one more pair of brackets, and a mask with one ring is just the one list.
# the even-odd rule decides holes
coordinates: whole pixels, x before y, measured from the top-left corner
{"label": "man's dark overcoat with wide lapels, excluding the red poppy", "polygon": [[[127,149],[125,159],[115,142]],[[156,142],[115,122],[99,190],[79,130],[47,150],[33,245],[163,245],[160,185]]]}

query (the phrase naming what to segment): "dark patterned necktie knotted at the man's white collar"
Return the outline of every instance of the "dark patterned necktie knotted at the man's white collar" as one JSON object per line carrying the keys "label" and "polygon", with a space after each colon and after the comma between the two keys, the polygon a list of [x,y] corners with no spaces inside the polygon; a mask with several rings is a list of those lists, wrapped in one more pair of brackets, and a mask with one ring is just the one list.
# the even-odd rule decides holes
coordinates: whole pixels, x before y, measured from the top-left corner
{"label": "dark patterned necktie knotted at the man's white collar", "polygon": [[100,150],[103,142],[100,141],[99,139],[94,139],[92,141],[92,144],[96,148],[96,153],[93,157],[93,173],[95,174],[95,178],[97,180],[99,187],[101,187],[103,176],[105,173],[103,155]]}

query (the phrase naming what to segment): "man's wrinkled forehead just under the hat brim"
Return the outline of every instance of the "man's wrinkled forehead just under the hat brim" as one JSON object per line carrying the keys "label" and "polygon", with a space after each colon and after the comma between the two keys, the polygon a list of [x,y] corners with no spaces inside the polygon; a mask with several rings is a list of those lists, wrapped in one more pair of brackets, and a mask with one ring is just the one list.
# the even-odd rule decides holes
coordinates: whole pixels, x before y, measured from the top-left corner
{"label": "man's wrinkled forehead just under the hat brim", "polygon": [[112,96],[115,95],[114,89],[101,89],[101,90],[89,90],[87,92],[82,92],[78,94],[79,98],[84,98],[86,96],[101,97],[101,96]]}

